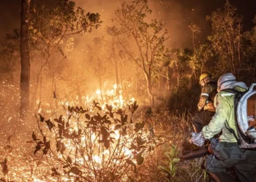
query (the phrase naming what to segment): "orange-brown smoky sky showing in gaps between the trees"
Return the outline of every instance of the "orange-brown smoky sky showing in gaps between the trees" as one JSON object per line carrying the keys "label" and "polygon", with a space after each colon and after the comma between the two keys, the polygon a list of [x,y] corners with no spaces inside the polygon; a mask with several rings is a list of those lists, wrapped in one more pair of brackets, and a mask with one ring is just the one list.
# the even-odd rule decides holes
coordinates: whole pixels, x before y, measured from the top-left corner
{"label": "orange-brown smoky sky showing in gaps between the trees", "polygon": [[[34,0],[37,4],[45,3],[47,7],[53,7],[59,0]],[[102,79],[115,81],[115,69],[113,59],[110,59],[110,47],[99,49],[94,44],[94,39],[110,39],[105,31],[106,27],[115,25],[112,22],[114,12],[121,7],[122,2],[130,0],[73,0],[76,5],[86,9],[87,12],[98,12],[101,16],[102,25],[91,33],[75,36],[74,49],[67,56],[67,59],[61,60],[64,66],[65,74],[72,73],[79,75],[83,79],[81,85],[88,85],[84,92],[94,92],[99,88],[99,75]],[[237,2],[234,0],[233,2]],[[232,2],[232,3],[233,3]],[[195,23],[201,28],[201,33],[195,38],[195,44],[199,45],[206,41],[206,36],[211,33],[211,25],[206,22],[206,15],[217,8],[223,7],[225,0],[148,0],[149,8],[152,14],[148,19],[158,19],[166,21],[166,29],[169,39],[166,41],[166,47],[172,48],[192,48],[192,33],[189,30],[189,24]],[[251,2],[252,4],[252,2]],[[236,5],[236,4],[235,4]],[[248,3],[241,4],[240,7],[248,7]],[[242,6],[243,5],[243,6]],[[238,9],[240,8],[238,7]],[[253,7],[253,6],[252,6]],[[20,27],[20,2],[14,0],[1,0],[1,35],[12,31],[13,28]],[[241,8],[242,9],[242,8]],[[250,8],[253,9],[253,8]],[[254,12],[248,10],[248,12]],[[252,14],[252,13],[251,13]],[[248,17],[249,18],[249,17]],[[247,18],[247,19],[248,19]],[[251,21],[252,19],[250,19]],[[125,59],[124,59],[125,60]],[[120,60],[118,60],[120,61]],[[129,61],[129,59],[126,59]],[[100,67],[100,65],[102,67]],[[120,68],[124,74],[124,80],[139,77],[135,66],[130,61],[124,63],[124,68]],[[118,73],[121,76],[120,73]],[[126,77],[125,77],[126,76]],[[132,80],[130,81],[132,83]],[[102,83],[105,84],[105,83]],[[69,85],[71,87],[71,85]],[[83,93],[82,93],[83,94]]]}

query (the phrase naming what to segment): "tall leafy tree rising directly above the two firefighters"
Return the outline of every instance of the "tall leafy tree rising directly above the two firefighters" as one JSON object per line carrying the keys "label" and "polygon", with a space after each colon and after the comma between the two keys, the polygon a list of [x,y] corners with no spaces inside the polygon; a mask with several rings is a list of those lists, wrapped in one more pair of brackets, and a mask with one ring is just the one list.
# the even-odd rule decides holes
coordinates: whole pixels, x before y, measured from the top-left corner
{"label": "tall leafy tree rising directly above the two firefighters", "polygon": [[226,1],[224,9],[217,9],[206,20],[211,21],[212,33],[208,36],[217,58],[217,71],[233,72],[239,75],[241,70],[241,16],[236,7]]}

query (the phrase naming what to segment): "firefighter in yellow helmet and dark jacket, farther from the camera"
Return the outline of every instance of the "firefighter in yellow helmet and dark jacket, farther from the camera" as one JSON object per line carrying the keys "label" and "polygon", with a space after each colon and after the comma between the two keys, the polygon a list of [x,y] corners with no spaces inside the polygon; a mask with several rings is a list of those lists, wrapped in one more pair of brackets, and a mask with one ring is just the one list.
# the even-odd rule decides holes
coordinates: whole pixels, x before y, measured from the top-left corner
{"label": "firefighter in yellow helmet and dark jacket, farther from the camera", "polygon": [[198,112],[192,118],[195,132],[200,132],[214,116],[214,97],[217,95],[217,82],[212,79],[208,72],[200,75],[199,84],[202,86],[202,92],[197,103]]}

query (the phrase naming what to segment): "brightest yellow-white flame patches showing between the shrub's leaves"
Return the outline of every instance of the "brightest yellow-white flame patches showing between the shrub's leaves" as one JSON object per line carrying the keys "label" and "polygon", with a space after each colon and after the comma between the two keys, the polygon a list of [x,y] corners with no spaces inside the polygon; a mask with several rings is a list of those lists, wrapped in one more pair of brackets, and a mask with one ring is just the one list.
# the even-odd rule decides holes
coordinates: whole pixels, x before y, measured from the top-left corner
{"label": "brightest yellow-white flame patches showing between the shrub's leaves", "polygon": [[[102,112],[104,113],[106,111],[106,104],[111,105],[113,107],[113,111],[118,108],[127,108],[127,105],[130,103],[133,103],[135,101],[135,98],[125,98],[123,95],[122,90],[120,89],[121,85],[113,84],[113,87],[110,90],[96,90],[93,95],[83,95],[82,97],[76,96],[76,100],[69,100],[69,101],[61,101],[59,106],[64,106],[67,108],[67,106],[78,106],[78,98],[82,100],[83,104],[85,106],[88,106],[86,109],[89,110],[91,114],[94,114],[94,109],[91,108],[91,102],[93,100],[99,100],[98,102],[100,103],[99,105],[102,107]],[[82,103],[80,103],[82,105]],[[44,103],[44,106],[50,106],[48,103]],[[49,107],[48,107],[49,108]],[[84,108],[84,106],[83,106]],[[39,108],[38,113],[42,113],[44,110],[42,108]],[[46,110],[47,113],[53,113],[53,110]],[[69,120],[70,112],[67,111],[66,114],[63,114],[63,118],[65,123],[67,123]],[[72,116],[75,117],[75,119],[79,119],[78,115],[75,113],[72,113]],[[50,121],[53,122],[53,118],[50,117]],[[109,164],[110,167],[115,167],[117,164],[124,165],[125,164],[125,159],[132,159],[132,156],[136,154],[136,150],[129,149],[131,146],[132,142],[134,141],[134,138],[132,138],[132,135],[129,135],[129,133],[126,136],[121,135],[121,130],[114,130],[115,129],[115,124],[110,125],[109,130],[113,131],[110,133],[110,138],[113,138],[113,141],[111,141],[111,146],[107,149],[105,148],[103,143],[99,143],[98,141],[102,140],[100,135],[95,134],[95,132],[92,132],[91,129],[85,129],[86,125],[78,125],[77,122],[69,122],[70,127],[68,129],[69,133],[78,133],[79,128],[83,128],[83,130],[86,130],[88,132],[87,134],[82,134],[79,138],[79,142],[74,140],[70,140],[69,138],[61,138],[61,142],[64,143],[64,146],[66,148],[66,151],[64,151],[64,154],[56,153],[56,156],[54,157],[53,155],[49,155],[48,159],[53,162],[53,165],[56,165],[54,163],[55,159],[58,158],[61,161],[67,162],[67,157],[72,158],[72,164],[75,162],[77,164],[80,164],[82,166],[89,165],[88,168],[83,169],[83,173],[90,174],[92,178],[95,178],[93,173],[90,172],[90,168],[92,169],[95,167],[97,170],[100,170],[102,167],[104,168],[106,165],[106,162],[111,159],[111,162]],[[47,126],[45,126],[46,129]],[[83,133],[83,132],[82,132]],[[52,132],[53,135],[53,132]],[[64,135],[64,134],[63,134]],[[108,138],[108,140],[110,140]],[[120,138],[123,138],[124,141],[120,141],[121,143],[118,144],[117,141],[119,141]],[[58,139],[59,140],[59,139]],[[79,144],[78,144],[79,143]],[[75,146],[78,144],[77,146]],[[116,146],[120,145],[121,148],[118,149],[118,154],[115,154],[113,156],[113,152],[116,149]],[[75,146],[75,147],[74,147]],[[89,153],[80,153],[78,157],[76,156],[77,152],[76,150],[83,150],[86,148],[91,148],[94,147],[94,150]],[[54,144],[53,144],[54,148]],[[101,149],[101,150],[98,150]],[[132,160],[136,164],[136,160]],[[87,164],[86,164],[87,162]],[[90,163],[91,162],[91,163]],[[63,166],[62,166],[63,167]],[[45,167],[46,168],[46,167]],[[59,167],[61,168],[61,167]],[[61,174],[64,175],[64,174]],[[75,176],[75,174],[71,174],[72,176]],[[15,173],[12,173],[12,176],[15,176]],[[34,178],[34,181],[40,182],[42,181],[42,178],[39,178],[40,175],[33,175],[32,177]],[[18,175],[17,175],[18,177]],[[50,181],[58,181],[56,178],[47,177]],[[70,178],[66,177],[61,177],[61,181],[72,181]]]}

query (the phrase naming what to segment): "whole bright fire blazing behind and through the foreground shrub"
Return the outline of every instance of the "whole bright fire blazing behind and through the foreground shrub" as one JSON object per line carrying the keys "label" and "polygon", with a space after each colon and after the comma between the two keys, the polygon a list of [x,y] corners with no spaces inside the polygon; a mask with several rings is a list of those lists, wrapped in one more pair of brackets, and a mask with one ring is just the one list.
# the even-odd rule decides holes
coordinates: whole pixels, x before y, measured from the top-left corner
{"label": "whole bright fire blazing behind and through the foreground shrub", "polygon": [[[76,99],[78,99],[78,97],[76,97]],[[99,175],[97,174],[100,171],[102,171],[100,173],[104,174],[115,171],[117,175],[120,175],[121,169],[125,169],[124,165],[129,166],[131,162],[134,165],[138,165],[136,156],[141,151],[139,151],[139,144],[136,143],[137,133],[134,132],[135,124],[129,122],[129,119],[127,119],[125,123],[118,123],[118,121],[123,122],[124,118],[121,119],[121,116],[116,114],[116,111],[120,108],[124,111],[128,111],[127,106],[134,103],[135,98],[124,99],[122,90],[118,90],[117,85],[114,84],[111,90],[105,90],[104,92],[96,90],[94,96],[90,97],[89,95],[84,95],[81,99],[83,103],[85,103],[86,107],[84,107],[84,109],[86,109],[86,114],[90,115],[89,119],[87,118],[85,120],[85,114],[80,114],[79,110],[70,111],[67,109],[76,106],[77,100],[59,100],[60,102],[58,104],[61,106],[60,108],[66,109],[62,111],[61,120],[58,120],[59,116],[57,117],[56,114],[49,116],[50,119],[48,122],[54,123],[52,131],[49,131],[48,124],[42,121],[39,122],[39,124],[42,125],[41,130],[47,136],[45,137],[46,141],[50,140],[51,150],[45,155],[47,159],[44,161],[45,165],[43,168],[44,170],[47,170],[49,166],[51,166],[51,168],[50,172],[48,170],[49,176],[47,178],[39,178],[40,173],[37,175],[34,174],[34,181],[58,181],[59,179],[61,179],[61,181],[75,181],[75,178],[79,176],[80,173],[88,175],[91,181],[100,181],[101,179],[99,179]],[[99,100],[99,106],[101,106],[102,110],[98,111],[97,107],[93,107],[92,100]],[[113,109],[112,112],[114,116],[111,118],[109,115],[110,111],[108,111],[109,108],[106,106],[107,104]],[[47,104],[44,106],[46,105]],[[39,108],[38,114],[44,115],[45,113],[53,113],[53,111]],[[95,125],[89,124],[91,121],[97,121],[97,114],[100,114],[100,122],[98,121],[99,123]],[[105,120],[108,120],[108,117],[110,120],[109,124],[108,122],[106,124],[106,121],[102,122],[102,118],[104,118],[106,114],[108,114],[108,116],[105,117]],[[94,119],[91,120],[91,117],[94,117]],[[56,119],[59,122],[56,122]],[[118,124],[119,127],[117,127]],[[40,132],[37,133],[37,141],[35,143],[39,142],[39,135]],[[148,132],[143,131],[140,133],[140,138],[146,140],[147,135]],[[57,145],[57,143],[59,144]],[[131,148],[132,143],[135,143],[135,147],[138,149],[134,147]],[[41,151],[44,147],[45,146],[42,145]],[[40,151],[37,151],[37,155],[39,152]],[[127,160],[130,161],[128,164]],[[120,169],[118,167],[120,167]],[[51,171],[53,168],[56,169],[54,173]],[[61,170],[65,170],[66,172],[64,173]],[[58,179],[56,175],[51,176],[52,173],[59,173],[61,176],[59,176]],[[73,178],[67,178],[67,173]],[[18,175],[12,173],[12,178],[15,179],[15,176]],[[45,180],[43,180],[43,178],[45,178]]]}

